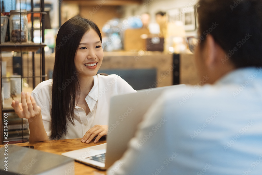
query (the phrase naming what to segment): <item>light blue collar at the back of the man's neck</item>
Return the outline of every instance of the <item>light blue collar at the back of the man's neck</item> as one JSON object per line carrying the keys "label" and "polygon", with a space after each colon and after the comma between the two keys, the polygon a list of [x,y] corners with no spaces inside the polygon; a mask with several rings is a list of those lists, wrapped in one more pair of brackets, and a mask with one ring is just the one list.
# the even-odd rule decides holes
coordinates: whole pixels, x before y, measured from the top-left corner
{"label": "light blue collar at the back of the man's neck", "polygon": [[238,68],[234,71],[229,72],[221,79],[219,79],[215,84],[239,84],[245,81],[251,82],[254,79],[262,78],[262,68],[261,67],[245,67]]}

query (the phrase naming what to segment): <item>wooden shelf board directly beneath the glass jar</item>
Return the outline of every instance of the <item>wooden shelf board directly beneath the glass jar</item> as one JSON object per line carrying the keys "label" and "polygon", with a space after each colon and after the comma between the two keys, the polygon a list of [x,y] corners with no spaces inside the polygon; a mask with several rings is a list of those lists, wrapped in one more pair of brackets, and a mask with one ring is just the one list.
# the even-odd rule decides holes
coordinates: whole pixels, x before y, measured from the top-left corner
{"label": "wooden shelf board directly beneath the glass jar", "polygon": [[6,42],[0,44],[1,51],[15,51],[20,52],[22,51],[37,51],[40,47],[45,47],[46,44],[44,43],[33,43],[33,42],[27,42],[27,43],[11,43]]}

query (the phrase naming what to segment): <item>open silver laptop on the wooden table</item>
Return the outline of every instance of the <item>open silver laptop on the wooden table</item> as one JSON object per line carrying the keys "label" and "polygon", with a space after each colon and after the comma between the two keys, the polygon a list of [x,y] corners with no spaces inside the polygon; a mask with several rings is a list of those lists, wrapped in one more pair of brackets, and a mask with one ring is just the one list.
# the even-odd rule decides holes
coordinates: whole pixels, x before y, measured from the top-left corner
{"label": "open silver laptop on the wooden table", "polygon": [[65,152],[62,155],[98,169],[107,169],[127,150],[129,140],[134,137],[137,125],[152,102],[165,89],[176,91],[181,87],[185,85],[143,89],[137,93],[113,96],[110,100],[107,143]]}

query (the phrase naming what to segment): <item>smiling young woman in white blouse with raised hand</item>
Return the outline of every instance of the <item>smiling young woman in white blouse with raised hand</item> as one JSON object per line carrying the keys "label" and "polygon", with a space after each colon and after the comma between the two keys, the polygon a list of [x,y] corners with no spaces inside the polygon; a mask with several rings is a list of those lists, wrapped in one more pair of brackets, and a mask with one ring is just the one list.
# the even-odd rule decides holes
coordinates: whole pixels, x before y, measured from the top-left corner
{"label": "smiling young woman in white blouse with raised hand", "polygon": [[[109,100],[122,92],[136,92],[117,75],[97,74],[102,60],[97,25],[79,16],[58,31],[53,79],[41,82],[21,103],[12,102],[20,118],[27,118],[30,142],[81,138],[95,143],[108,130]],[[59,49],[58,49],[59,48]]]}

